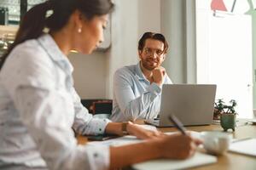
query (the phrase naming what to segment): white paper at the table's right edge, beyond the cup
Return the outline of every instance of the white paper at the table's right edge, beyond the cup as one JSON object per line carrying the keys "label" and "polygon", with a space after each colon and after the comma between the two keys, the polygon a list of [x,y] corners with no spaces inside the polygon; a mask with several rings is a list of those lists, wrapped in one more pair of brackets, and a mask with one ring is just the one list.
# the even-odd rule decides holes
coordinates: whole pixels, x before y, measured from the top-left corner
{"label": "white paper at the table's right edge, beyond the cup", "polygon": [[256,139],[235,140],[230,145],[230,151],[248,156],[256,156]]}

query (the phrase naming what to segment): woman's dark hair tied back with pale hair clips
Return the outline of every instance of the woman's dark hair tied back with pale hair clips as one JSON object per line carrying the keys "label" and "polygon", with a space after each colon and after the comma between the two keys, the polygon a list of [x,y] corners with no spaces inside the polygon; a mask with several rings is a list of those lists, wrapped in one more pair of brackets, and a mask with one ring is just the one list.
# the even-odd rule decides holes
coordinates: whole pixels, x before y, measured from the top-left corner
{"label": "woman's dark hair tied back with pale hair clips", "polygon": [[[39,3],[31,8],[21,20],[15,42],[9,46],[0,61],[0,69],[18,44],[40,37],[44,34],[44,28],[48,28],[49,31],[61,30],[76,9],[84,14],[87,20],[91,20],[94,16],[111,13],[113,3],[111,0],[48,0],[45,3]],[[52,14],[47,17],[50,11]]]}

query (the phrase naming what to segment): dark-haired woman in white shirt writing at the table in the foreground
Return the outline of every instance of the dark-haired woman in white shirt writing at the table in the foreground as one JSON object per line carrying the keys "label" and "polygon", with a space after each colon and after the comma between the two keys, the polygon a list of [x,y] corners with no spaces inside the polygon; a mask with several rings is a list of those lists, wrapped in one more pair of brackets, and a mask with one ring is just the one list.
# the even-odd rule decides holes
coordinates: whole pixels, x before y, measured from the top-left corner
{"label": "dark-haired woman in white shirt writing at the table in the foreground", "polygon": [[[91,54],[103,41],[112,10],[110,0],[49,0],[27,12],[0,65],[0,168],[113,169],[194,154],[197,139],[96,119],[81,105],[67,55],[73,49]],[[78,145],[72,128],[80,134],[127,131],[146,140]]]}

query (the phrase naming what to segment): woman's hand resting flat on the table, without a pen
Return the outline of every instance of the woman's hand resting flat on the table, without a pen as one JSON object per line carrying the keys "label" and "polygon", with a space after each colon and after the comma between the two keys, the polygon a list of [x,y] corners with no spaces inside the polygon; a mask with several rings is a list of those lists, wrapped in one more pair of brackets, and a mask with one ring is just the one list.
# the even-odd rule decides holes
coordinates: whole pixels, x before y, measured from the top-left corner
{"label": "woman's hand resting flat on the table, without a pen", "polygon": [[136,136],[138,139],[154,139],[166,135],[165,133],[161,133],[160,131],[145,129],[132,122],[127,123],[126,130],[129,134]]}

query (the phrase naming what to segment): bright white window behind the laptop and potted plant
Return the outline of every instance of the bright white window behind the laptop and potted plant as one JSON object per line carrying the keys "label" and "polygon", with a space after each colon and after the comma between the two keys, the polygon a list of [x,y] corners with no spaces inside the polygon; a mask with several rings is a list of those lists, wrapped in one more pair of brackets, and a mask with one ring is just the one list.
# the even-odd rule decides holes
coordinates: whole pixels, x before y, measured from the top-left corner
{"label": "bright white window behind the laptop and potted plant", "polygon": [[[222,8],[212,10],[212,2]],[[214,6],[214,5],[213,5]],[[225,7],[225,8],[224,8]],[[236,99],[238,116],[253,116],[252,18],[243,0],[196,0],[198,83],[218,85],[216,99]]]}

